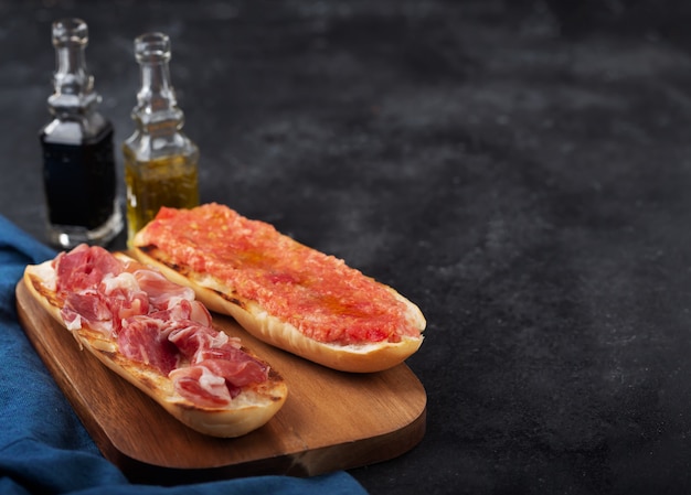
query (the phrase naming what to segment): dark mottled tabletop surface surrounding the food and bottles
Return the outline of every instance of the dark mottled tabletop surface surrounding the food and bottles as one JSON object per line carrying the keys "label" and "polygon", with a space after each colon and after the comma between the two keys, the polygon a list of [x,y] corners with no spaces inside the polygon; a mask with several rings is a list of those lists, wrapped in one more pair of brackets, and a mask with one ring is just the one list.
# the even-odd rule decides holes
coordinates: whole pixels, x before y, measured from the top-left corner
{"label": "dark mottled tabletop surface surrounding the food and bottles", "polygon": [[427,432],[372,495],[689,493],[687,2],[0,1],[0,213],[39,238],[64,15],[118,142],[163,31],[202,201],[425,313]]}

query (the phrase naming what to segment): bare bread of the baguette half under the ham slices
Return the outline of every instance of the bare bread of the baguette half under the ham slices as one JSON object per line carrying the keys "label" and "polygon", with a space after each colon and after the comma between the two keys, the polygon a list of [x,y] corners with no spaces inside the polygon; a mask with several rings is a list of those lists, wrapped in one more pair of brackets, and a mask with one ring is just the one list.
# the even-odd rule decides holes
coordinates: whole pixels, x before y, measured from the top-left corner
{"label": "bare bread of the baguette half under the ham slices", "polygon": [[[131,259],[116,254],[120,259]],[[54,291],[52,261],[30,265],[23,281],[40,305],[67,329],[61,316],[61,301]],[[170,415],[191,429],[212,437],[234,438],[244,435],[268,422],[286,401],[288,388],[281,376],[269,368],[268,380],[243,387],[242,392],[228,406],[214,408],[194,403],[173,389],[172,380],[152,367],[132,362],[118,353],[117,343],[87,327],[67,331],[100,363],[149,396]],[[65,336],[67,333],[65,333]],[[257,357],[251,351],[245,352]]]}

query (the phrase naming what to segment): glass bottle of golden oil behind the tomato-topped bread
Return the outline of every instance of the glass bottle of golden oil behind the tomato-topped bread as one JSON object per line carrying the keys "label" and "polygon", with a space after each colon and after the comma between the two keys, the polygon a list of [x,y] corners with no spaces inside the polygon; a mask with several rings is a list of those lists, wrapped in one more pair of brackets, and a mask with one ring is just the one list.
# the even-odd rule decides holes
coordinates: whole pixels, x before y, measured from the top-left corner
{"label": "glass bottle of golden oil behind the tomato-topped bread", "polygon": [[123,143],[128,243],[161,206],[199,204],[199,149],[181,131],[184,117],[170,80],[170,53],[166,34],[135,40],[141,86],[131,114],[136,129]]}

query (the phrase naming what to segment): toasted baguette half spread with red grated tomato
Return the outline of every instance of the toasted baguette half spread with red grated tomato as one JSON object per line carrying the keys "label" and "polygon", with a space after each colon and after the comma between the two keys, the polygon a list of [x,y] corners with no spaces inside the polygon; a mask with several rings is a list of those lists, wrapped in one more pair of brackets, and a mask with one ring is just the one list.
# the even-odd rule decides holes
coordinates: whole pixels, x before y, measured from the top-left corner
{"label": "toasted baguette half spread with red grated tomato", "polygon": [[425,318],[394,289],[221,204],[163,207],[130,248],[211,311],[330,368],[387,369],[423,342]]}

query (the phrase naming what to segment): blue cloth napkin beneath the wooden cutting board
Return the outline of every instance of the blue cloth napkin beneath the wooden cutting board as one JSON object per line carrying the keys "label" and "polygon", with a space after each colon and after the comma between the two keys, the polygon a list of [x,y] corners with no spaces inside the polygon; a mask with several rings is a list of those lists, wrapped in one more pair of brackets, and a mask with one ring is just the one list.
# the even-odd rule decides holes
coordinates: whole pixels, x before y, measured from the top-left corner
{"label": "blue cloth napkin beneath the wooden cutting board", "polygon": [[366,495],[342,471],[172,487],[130,484],[99,453],[18,322],[14,288],[24,267],[55,254],[0,215],[0,494]]}

